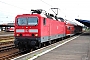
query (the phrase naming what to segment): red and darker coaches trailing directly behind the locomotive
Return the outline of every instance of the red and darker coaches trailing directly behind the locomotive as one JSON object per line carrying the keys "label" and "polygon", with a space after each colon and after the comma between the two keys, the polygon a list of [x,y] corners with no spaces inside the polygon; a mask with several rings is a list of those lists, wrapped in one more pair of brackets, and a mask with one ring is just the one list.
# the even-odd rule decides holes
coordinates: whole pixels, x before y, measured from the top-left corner
{"label": "red and darker coaches trailing directly behind the locomotive", "polygon": [[71,21],[66,21],[66,36],[70,37],[78,33],[82,33],[82,26]]}

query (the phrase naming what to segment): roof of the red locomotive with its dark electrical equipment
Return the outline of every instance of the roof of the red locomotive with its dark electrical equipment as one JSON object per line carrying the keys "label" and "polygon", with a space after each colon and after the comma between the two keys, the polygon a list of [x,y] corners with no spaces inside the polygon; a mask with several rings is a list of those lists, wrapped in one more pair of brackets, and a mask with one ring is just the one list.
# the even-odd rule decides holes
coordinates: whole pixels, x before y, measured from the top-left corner
{"label": "roof of the red locomotive with its dark electrical equipment", "polygon": [[[47,13],[45,10],[42,10],[42,9],[31,10],[31,11],[32,11],[31,14],[22,14],[22,15],[32,15],[32,14],[33,15],[40,15],[40,16],[45,17],[45,18],[50,18],[53,20],[64,22],[63,18],[54,16],[53,14],[50,14],[50,13]],[[17,16],[19,17],[21,15],[17,15]]]}

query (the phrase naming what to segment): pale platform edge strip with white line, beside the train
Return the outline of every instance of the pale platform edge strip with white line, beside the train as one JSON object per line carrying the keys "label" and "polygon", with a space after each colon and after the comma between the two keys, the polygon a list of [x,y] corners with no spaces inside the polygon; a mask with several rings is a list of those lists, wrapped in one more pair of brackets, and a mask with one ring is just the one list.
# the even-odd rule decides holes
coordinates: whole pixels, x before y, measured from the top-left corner
{"label": "pale platform edge strip with white line, beside the train", "polygon": [[33,60],[59,46],[62,46],[63,44],[66,44],[67,42],[77,38],[79,36],[74,36],[74,37],[71,37],[71,38],[68,38],[68,39],[65,39],[65,40],[62,40],[62,41],[59,41],[59,42],[56,42],[54,44],[51,44],[51,45],[48,45],[48,46],[45,46],[45,47],[42,47],[40,49],[37,49],[35,51],[32,51],[30,53],[27,53],[27,54],[24,54],[24,55],[21,55],[19,57],[16,57],[14,59],[11,59],[11,60]]}

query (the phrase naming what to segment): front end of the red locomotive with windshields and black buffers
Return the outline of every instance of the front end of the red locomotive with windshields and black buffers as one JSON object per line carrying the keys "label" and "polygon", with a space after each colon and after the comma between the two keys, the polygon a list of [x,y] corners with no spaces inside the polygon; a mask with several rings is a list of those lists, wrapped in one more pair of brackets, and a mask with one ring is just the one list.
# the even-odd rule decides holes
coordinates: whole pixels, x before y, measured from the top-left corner
{"label": "front end of the red locomotive with windshields and black buffers", "polygon": [[14,44],[19,50],[31,49],[39,45],[39,17],[19,15],[15,19]]}

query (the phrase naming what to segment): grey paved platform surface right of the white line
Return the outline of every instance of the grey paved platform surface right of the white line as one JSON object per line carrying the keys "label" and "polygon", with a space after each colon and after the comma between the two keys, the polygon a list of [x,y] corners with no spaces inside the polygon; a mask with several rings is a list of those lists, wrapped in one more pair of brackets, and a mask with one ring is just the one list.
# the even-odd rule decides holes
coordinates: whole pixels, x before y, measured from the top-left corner
{"label": "grey paved platform surface right of the white line", "polygon": [[83,33],[35,60],[90,60],[90,33]]}

